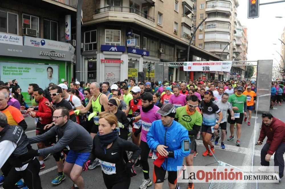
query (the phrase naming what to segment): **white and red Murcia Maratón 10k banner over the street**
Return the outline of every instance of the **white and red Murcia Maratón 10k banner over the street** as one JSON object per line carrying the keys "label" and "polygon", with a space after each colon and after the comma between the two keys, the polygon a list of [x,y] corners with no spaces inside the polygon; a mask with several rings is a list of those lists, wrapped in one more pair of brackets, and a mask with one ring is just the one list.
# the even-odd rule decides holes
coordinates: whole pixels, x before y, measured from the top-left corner
{"label": "white and red Murcia Marat\u00f3n 10k banner over the street", "polygon": [[206,62],[184,62],[184,71],[204,72],[231,72],[232,61],[206,61]]}

